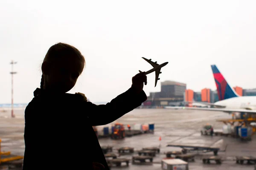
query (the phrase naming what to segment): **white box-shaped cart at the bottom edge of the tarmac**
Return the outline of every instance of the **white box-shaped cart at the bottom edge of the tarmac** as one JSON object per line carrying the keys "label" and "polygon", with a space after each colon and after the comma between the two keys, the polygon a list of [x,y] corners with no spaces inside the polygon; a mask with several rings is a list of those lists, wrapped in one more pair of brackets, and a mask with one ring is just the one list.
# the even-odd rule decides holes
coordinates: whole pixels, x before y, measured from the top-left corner
{"label": "white box-shaped cart at the bottom edge of the tarmac", "polygon": [[189,164],[181,159],[162,159],[163,170],[189,170]]}

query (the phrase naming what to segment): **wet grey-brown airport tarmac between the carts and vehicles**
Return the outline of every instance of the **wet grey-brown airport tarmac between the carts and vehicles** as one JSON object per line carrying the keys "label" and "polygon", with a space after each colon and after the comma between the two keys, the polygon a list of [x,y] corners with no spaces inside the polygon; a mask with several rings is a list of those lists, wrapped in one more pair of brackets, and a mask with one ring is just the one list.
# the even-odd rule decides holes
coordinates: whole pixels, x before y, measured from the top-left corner
{"label": "wet grey-brown airport tarmac between the carts and vehicles", "polygon": [[[2,139],[2,150],[11,151],[14,154],[23,155],[24,152],[24,111],[15,111],[16,118],[10,118],[11,113],[0,113],[0,138]],[[42,115],[43,116],[43,115]],[[215,119],[227,119],[231,115],[214,111],[185,111],[168,109],[134,109],[130,113],[122,116],[117,122],[124,124],[133,123],[154,123],[153,134],[143,134],[139,136],[126,137],[121,140],[99,139],[102,146],[113,146],[113,152],[117,153],[119,147],[134,147],[140,150],[143,147],[160,146],[160,154],[154,157],[154,164],[134,165],[128,167],[112,167],[111,169],[122,170],[161,170],[160,161],[167,151],[181,150],[178,147],[166,147],[167,144],[197,144],[200,146],[220,147],[223,152],[218,155],[227,158],[222,164],[203,164],[201,155],[213,155],[212,152],[196,156],[195,162],[189,162],[189,170],[253,170],[253,165],[236,164],[232,161],[234,156],[256,156],[256,137],[252,141],[241,142],[239,139],[223,136],[201,136],[200,129],[206,123],[212,124],[215,129],[221,129],[223,123],[216,122]],[[161,141],[159,141],[161,137]],[[131,154],[121,155],[120,158],[131,159]]]}

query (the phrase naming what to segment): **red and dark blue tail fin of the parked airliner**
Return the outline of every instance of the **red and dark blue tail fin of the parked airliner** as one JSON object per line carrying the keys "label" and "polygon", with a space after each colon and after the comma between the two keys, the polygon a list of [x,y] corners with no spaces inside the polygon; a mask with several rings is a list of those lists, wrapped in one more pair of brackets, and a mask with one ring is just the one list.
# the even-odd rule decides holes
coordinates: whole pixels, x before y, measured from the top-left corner
{"label": "red and dark blue tail fin of the parked airliner", "polygon": [[229,99],[232,97],[238,97],[239,95],[230,85],[227,83],[226,79],[222,76],[221,72],[218,70],[216,65],[211,65],[213,77],[216,83],[219,100]]}

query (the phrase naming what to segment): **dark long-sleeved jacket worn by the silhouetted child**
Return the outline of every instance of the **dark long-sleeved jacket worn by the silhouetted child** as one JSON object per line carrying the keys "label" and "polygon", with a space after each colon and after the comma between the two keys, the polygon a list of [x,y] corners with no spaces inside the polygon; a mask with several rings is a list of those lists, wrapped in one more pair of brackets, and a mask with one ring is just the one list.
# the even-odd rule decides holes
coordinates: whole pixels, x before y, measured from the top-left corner
{"label": "dark long-sleeved jacket worn by the silhouetted child", "polygon": [[92,126],[106,125],[137,108],[144,91],[129,88],[106,105],[77,94],[50,94],[37,88],[25,110],[23,170],[90,170],[92,162],[108,164]]}

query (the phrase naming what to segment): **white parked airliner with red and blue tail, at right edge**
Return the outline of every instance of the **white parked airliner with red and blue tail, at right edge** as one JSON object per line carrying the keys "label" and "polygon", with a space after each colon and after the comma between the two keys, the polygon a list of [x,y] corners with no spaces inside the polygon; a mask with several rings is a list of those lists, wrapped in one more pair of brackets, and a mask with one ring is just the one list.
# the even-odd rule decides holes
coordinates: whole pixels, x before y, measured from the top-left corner
{"label": "white parked airliner with red and blue tail, at right edge", "polygon": [[[214,108],[194,108],[194,107],[171,107],[169,109],[190,109],[204,111],[224,111],[235,113],[236,116],[241,113],[256,114],[256,96],[239,96],[233,88],[227,83],[216,65],[211,65],[213,77],[215,79],[219,101],[215,103],[198,102],[205,105],[211,105]],[[241,117],[241,116],[240,116]]]}

